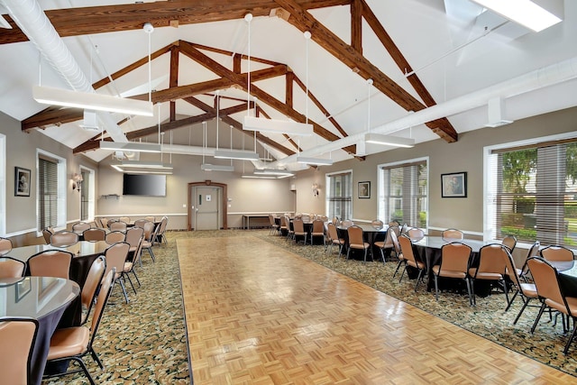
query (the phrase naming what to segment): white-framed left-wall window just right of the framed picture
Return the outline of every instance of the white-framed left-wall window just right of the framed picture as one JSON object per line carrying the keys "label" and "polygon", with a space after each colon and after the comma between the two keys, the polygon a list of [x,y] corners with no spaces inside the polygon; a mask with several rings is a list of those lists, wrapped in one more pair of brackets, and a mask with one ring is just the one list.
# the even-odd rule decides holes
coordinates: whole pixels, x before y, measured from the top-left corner
{"label": "white-framed left-wall window just right of the framed picture", "polygon": [[66,226],[66,160],[38,150],[38,231]]}

